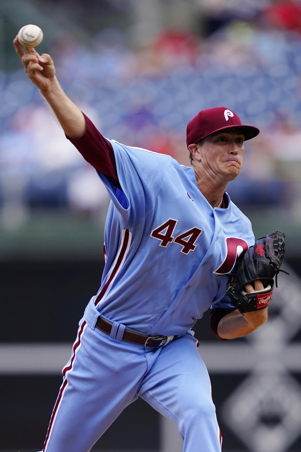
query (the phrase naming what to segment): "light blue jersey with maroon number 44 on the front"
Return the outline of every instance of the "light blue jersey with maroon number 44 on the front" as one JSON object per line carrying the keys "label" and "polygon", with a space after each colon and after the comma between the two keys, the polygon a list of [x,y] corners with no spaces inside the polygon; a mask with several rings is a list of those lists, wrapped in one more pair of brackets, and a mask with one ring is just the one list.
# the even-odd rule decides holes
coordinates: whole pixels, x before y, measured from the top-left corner
{"label": "light blue jersey with maroon number 44 on the front", "polygon": [[97,310],[149,335],[184,334],[210,305],[232,307],[227,274],[254,244],[250,221],[228,195],[227,209],[212,208],[193,168],[111,145],[122,191],[98,173],[111,203]]}

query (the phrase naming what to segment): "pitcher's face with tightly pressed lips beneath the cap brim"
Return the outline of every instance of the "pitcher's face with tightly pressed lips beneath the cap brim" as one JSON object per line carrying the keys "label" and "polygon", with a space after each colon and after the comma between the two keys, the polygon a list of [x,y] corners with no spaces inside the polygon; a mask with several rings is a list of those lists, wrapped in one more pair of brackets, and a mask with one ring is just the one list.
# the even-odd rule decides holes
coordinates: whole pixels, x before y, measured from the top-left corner
{"label": "pitcher's face with tightly pressed lips beneath the cap brim", "polygon": [[240,131],[221,131],[204,138],[198,146],[199,170],[221,180],[233,180],[240,173],[245,136]]}

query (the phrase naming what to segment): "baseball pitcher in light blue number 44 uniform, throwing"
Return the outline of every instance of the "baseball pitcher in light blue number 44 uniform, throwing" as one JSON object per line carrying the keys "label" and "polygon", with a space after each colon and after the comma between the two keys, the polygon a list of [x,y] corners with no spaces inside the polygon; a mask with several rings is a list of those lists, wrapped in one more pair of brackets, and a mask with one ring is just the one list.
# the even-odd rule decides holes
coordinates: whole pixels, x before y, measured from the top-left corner
{"label": "baseball pitcher in light blue number 44 uniform, throwing", "polygon": [[[242,315],[225,295],[236,258],[254,245],[225,189],[241,170],[244,141],[259,130],[225,107],[203,110],[187,127],[191,166],[180,165],[104,138],[61,89],[51,57],[27,53],[17,37],[14,47],[111,197],[101,286],[79,322],[43,452],[89,451],[138,397],[178,425],[183,451],[221,451],[192,327],[210,306],[213,332],[225,340],[267,319],[264,301]],[[264,290],[256,279],[243,293]]]}

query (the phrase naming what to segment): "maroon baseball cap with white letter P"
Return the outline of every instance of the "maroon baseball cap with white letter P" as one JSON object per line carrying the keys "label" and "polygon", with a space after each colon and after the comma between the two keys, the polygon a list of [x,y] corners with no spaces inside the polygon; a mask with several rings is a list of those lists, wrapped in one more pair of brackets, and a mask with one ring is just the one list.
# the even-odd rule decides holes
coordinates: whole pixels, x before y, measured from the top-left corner
{"label": "maroon baseball cap with white letter P", "polygon": [[259,129],[253,126],[241,124],[237,114],[226,107],[208,108],[201,110],[187,126],[186,143],[196,143],[202,138],[208,137],[219,130],[239,127],[245,135],[245,140],[250,140],[259,134]]}

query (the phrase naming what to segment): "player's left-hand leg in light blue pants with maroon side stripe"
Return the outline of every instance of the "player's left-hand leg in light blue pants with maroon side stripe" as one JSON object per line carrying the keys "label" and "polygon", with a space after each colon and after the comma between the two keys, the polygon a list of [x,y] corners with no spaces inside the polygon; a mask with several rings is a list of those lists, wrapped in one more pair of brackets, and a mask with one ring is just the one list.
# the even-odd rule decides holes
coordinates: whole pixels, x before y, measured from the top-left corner
{"label": "player's left-hand leg in light blue pants with maroon side stripe", "polygon": [[87,324],[80,331],[64,368],[47,432],[47,452],[90,450],[137,398],[139,379],[147,370],[143,347],[111,341]]}

